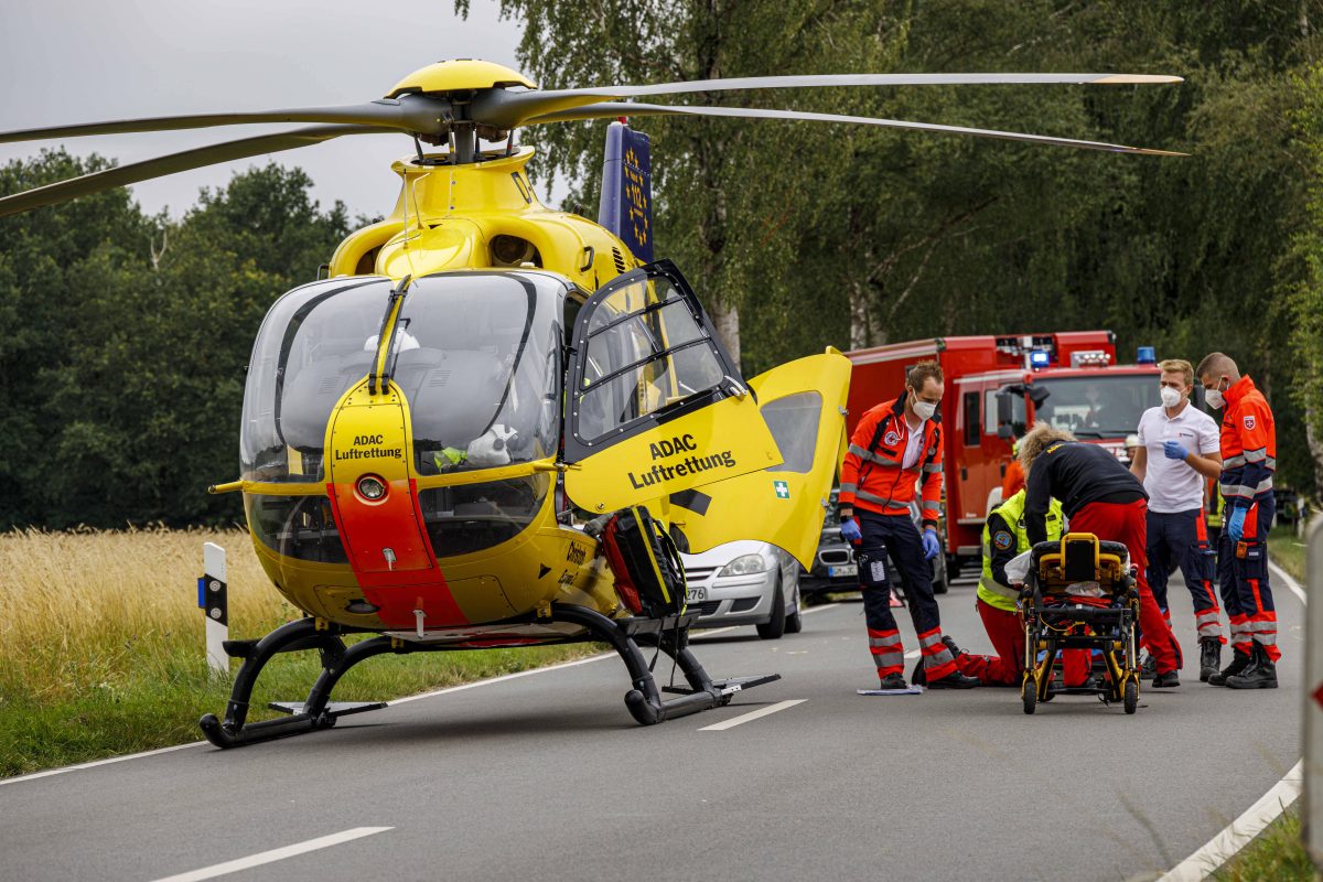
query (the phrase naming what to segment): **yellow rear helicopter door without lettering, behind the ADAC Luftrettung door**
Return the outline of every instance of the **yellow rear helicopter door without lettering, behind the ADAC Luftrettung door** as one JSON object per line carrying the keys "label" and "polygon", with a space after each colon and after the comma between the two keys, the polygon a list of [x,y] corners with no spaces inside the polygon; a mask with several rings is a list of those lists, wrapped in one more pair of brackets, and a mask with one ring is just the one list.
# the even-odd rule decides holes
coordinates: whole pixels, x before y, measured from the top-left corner
{"label": "yellow rear helicopter door without lettering, behind the ADAC Luftrettung door", "polygon": [[753,475],[671,495],[671,532],[697,554],[762,540],[812,569],[832,479],[843,455],[849,360],[836,349],[749,381],[785,461]]}

